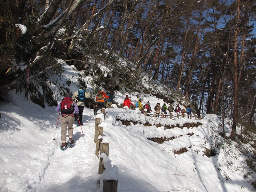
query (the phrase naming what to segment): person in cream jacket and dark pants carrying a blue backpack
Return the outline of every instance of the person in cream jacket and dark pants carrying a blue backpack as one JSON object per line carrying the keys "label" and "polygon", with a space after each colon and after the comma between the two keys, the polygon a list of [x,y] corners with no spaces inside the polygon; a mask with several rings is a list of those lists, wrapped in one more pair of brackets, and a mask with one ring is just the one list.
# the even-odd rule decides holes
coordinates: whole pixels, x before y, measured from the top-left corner
{"label": "person in cream jacket and dark pants carrying a blue backpack", "polygon": [[[79,109],[79,119],[77,120],[77,126],[82,125],[83,122],[83,111],[84,111],[84,102],[85,98],[90,98],[91,94],[90,92],[86,93],[82,88],[78,89],[74,94],[72,95],[72,100],[76,102],[76,106]],[[80,124],[79,124],[80,122]]]}

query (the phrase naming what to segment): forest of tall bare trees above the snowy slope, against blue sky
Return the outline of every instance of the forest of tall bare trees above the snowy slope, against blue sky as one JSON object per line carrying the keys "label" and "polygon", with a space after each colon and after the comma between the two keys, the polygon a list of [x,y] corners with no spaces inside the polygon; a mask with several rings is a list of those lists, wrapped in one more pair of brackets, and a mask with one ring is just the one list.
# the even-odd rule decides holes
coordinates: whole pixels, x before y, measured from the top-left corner
{"label": "forest of tall bare trees above the snowy slope, against blue sky", "polygon": [[[0,96],[52,100],[56,59],[82,70],[116,56],[183,94],[198,113],[255,127],[255,0],[0,0]],[[26,26],[22,34],[16,24]],[[206,111],[204,111],[206,110]],[[242,134],[242,133],[241,133]]]}

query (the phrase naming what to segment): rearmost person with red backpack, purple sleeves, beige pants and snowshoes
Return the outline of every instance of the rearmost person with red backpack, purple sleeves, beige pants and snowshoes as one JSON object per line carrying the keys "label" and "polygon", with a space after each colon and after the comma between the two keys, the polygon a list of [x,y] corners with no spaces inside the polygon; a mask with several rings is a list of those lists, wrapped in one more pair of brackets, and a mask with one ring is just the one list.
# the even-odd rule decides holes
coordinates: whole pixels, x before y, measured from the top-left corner
{"label": "rearmost person with red backpack, purple sleeves, beige pants and snowshoes", "polygon": [[[75,120],[75,115],[79,118],[79,109],[76,103],[72,101],[71,94],[66,94],[65,98],[58,104],[55,109],[56,112],[61,112],[60,123],[61,123],[61,150],[65,150],[68,144],[74,144],[73,140],[73,124]],[[66,143],[66,134],[68,128],[68,143]]]}

